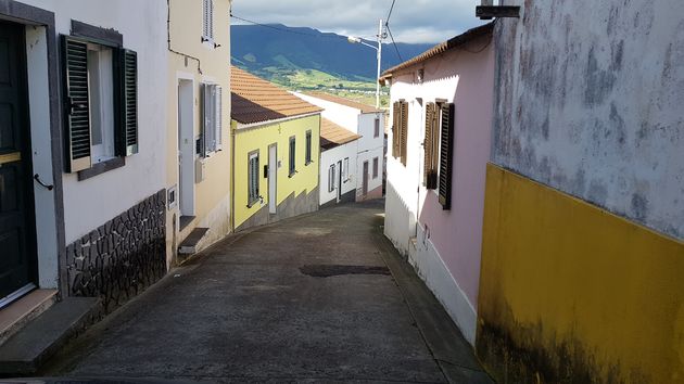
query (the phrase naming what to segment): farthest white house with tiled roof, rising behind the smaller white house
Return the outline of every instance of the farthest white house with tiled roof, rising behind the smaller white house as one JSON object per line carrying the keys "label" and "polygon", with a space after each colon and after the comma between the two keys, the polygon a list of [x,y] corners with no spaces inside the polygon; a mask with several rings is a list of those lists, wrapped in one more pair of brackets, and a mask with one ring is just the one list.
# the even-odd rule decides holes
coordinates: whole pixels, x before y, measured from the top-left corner
{"label": "farthest white house with tiled roof, rising behind the smaller white house", "polygon": [[382,197],[384,112],[327,93],[296,95],[324,108],[322,117],[360,136],[356,157],[356,201]]}

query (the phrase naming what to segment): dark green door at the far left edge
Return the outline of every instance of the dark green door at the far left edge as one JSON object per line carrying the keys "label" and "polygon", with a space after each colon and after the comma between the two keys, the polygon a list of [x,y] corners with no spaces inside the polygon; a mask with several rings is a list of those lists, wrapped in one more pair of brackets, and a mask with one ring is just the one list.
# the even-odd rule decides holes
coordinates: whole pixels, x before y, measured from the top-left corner
{"label": "dark green door at the far left edge", "polygon": [[0,23],[0,300],[37,274],[24,34]]}

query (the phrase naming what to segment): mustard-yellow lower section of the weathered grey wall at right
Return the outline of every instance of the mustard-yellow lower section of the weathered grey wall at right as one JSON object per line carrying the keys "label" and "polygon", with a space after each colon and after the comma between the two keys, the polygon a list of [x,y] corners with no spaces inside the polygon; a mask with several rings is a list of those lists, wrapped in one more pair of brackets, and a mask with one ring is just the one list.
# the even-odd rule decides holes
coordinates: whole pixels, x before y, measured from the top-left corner
{"label": "mustard-yellow lower section of the weathered grey wall at right", "polygon": [[684,243],[490,165],[477,351],[511,383],[684,382]]}

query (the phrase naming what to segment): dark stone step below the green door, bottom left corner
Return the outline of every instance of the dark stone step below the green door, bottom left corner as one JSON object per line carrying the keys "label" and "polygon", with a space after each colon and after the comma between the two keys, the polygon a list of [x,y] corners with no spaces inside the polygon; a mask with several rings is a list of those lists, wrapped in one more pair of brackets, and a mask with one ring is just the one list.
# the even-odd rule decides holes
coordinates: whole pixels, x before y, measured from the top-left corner
{"label": "dark stone step below the green door, bottom left corner", "polygon": [[21,332],[0,346],[0,374],[36,373],[42,362],[90,325],[100,310],[99,298],[67,297],[25,321]]}

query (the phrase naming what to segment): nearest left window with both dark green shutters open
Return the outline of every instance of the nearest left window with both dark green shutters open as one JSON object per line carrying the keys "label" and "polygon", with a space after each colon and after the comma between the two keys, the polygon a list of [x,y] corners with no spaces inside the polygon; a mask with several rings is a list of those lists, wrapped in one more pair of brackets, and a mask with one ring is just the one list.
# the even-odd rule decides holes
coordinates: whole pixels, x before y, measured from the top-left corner
{"label": "nearest left window with both dark green shutters open", "polygon": [[66,171],[138,153],[136,52],[72,36],[62,37],[62,48]]}

